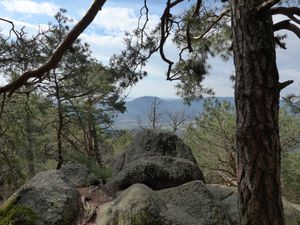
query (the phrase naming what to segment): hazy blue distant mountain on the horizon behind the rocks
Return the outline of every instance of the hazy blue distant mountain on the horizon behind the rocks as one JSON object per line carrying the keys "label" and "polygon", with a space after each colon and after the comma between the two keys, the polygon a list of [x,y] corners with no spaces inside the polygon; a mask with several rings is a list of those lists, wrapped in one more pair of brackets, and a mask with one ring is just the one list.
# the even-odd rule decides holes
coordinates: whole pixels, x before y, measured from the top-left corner
{"label": "hazy blue distant mountain on the horizon behind the rocks", "polygon": [[[133,129],[139,126],[139,123],[148,123],[149,112],[152,108],[152,104],[155,101],[154,96],[144,96],[133,99],[126,102],[126,112],[119,114],[115,118],[115,129]],[[219,97],[220,101],[229,101],[234,103],[233,97]],[[161,123],[166,124],[168,121],[168,113],[183,113],[187,120],[191,120],[195,116],[198,116],[203,109],[203,100],[193,101],[188,106],[180,99],[162,99],[157,98],[160,102],[158,112],[162,114]]]}

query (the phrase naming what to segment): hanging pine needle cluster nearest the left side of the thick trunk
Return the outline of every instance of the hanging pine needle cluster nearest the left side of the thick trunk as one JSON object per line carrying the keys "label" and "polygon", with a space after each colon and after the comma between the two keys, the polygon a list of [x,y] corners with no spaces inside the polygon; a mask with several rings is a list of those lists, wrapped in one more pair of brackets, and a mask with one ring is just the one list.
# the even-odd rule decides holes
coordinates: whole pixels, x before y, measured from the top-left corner
{"label": "hanging pine needle cluster nearest the left side of the thick trunk", "polygon": [[[207,32],[209,26],[216,20],[216,12],[219,8],[207,7],[203,3],[197,16],[193,16],[195,7],[188,9],[178,20],[182,20],[182,27],[175,29],[173,41],[179,49],[189,46],[189,53],[179,60],[173,68],[173,74],[178,74],[180,83],[176,85],[177,94],[186,102],[201,97],[203,94],[212,94],[211,89],[202,84],[208,75],[210,65],[209,57],[220,56],[228,60],[232,55],[230,52],[231,29],[228,25],[229,17],[226,15],[215,23],[215,29]],[[187,38],[186,27],[189,27],[189,38]],[[192,50],[192,51],[191,51]]]}

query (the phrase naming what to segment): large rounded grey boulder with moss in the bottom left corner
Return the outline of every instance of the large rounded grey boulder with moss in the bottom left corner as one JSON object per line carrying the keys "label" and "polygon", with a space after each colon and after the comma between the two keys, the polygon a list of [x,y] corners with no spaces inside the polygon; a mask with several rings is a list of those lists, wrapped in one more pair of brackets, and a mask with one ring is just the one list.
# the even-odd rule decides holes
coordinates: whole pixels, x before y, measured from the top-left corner
{"label": "large rounded grey boulder with moss in the bottom left corner", "polygon": [[33,177],[0,209],[1,225],[67,225],[78,211],[75,186],[57,170]]}

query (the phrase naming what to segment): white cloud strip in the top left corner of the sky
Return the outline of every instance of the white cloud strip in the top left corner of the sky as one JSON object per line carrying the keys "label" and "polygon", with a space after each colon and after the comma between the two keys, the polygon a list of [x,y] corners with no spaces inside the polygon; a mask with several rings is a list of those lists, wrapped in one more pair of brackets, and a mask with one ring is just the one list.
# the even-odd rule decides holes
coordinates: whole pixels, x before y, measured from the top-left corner
{"label": "white cloud strip in the top left corner of the sky", "polygon": [[35,2],[32,0],[4,0],[1,5],[10,12],[24,14],[42,14],[53,16],[59,9],[59,6],[52,2]]}

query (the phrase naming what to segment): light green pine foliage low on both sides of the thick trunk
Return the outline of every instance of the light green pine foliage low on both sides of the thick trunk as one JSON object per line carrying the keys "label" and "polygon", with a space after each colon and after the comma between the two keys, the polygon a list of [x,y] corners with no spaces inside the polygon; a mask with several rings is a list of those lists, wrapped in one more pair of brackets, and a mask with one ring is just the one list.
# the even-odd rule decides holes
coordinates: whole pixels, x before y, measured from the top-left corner
{"label": "light green pine foliage low on both sides of the thick trunk", "polygon": [[[208,183],[236,185],[235,120],[235,110],[229,103],[210,99],[205,101],[203,113],[185,131],[184,140],[191,147]],[[286,160],[289,158],[285,157],[291,156],[291,149],[300,143],[300,118],[283,107],[280,110],[279,126],[282,169],[295,174],[297,167],[292,167],[295,163],[289,164],[291,167],[287,168]],[[283,176],[287,174],[283,172]],[[284,177],[282,179],[285,180]],[[289,192],[292,184],[288,181],[291,179],[286,181],[286,190]],[[294,187],[297,185],[292,185],[291,189]]]}

